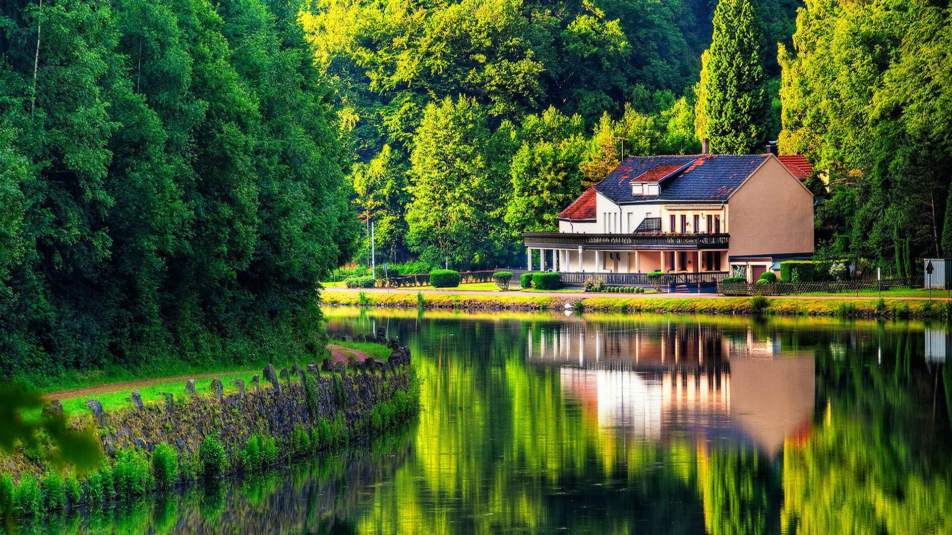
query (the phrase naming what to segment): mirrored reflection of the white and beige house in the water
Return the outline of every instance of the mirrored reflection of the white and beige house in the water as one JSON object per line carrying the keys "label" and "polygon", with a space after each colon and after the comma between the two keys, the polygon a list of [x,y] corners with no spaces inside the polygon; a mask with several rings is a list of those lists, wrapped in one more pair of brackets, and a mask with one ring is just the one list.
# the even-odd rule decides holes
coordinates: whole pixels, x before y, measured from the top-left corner
{"label": "mirrored reflection of the white and beige house in the water", "polygon": [[585,416],[636,437],[737,438],[774,455],[810,428],[812,351],[751,327],[580,321],[542,327],[527,346],[531,364],[560,367],[564,395]]}

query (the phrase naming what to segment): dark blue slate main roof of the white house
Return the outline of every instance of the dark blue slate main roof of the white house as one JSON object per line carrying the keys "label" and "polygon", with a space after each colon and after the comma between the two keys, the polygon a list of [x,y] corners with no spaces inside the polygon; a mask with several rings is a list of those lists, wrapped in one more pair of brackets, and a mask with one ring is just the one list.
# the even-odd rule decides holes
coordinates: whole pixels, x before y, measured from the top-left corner
{"label": "dark blue slate main roof of the white house", "polygon": [[[618,204],[664,201],[725,201],[769,154],[704,154],[690,156],[628,156],[595,185]],[[664,168],[661,168],[664,166]],[[679,166],[671,171],[673,166]],[[650,172],[661,168],[662,172]],[[632,195],[637,177],[664,176],[660,195]]]}

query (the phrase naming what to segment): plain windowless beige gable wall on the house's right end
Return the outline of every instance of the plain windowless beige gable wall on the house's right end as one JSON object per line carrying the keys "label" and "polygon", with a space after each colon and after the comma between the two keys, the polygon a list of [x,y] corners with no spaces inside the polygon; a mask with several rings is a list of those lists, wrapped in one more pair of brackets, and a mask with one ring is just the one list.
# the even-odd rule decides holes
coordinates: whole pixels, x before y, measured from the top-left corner
{"label": "plain windowless beige gable wall on the house's right end", "polygon": [[813,195],[767,158],[728,199],[732,256],[813,252]]}

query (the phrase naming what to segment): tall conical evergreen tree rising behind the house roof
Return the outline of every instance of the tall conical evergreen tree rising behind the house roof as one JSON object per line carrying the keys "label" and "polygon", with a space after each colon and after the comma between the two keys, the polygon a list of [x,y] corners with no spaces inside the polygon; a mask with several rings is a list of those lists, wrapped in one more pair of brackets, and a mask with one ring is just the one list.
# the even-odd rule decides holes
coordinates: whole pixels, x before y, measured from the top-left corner
{"label": "tall conical evergreen tree rising behind the house roof", "polygon": [[701,107],[711,149],[738,154],[758,151],[766,142],[770,101],[762,30],[750,0],[721,0],[714,10],[706,68]]}

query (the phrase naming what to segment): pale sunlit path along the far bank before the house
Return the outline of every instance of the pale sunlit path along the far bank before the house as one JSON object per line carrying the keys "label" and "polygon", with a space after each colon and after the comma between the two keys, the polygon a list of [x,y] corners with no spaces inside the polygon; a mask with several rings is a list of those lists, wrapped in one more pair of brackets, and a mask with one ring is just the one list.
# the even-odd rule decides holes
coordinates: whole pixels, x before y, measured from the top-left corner
{"label": "pale sunlit path along the far bank before the house", "polygon": [[[324,292],[343,292],[343,293],[411,293],[416,294],[417,292],[423,293],[424,295],[485,295],[486,297],[501,297],[501,296],[525,296],[525,297],[578,297],[579,299],[585,299],[588,297],[612,297],[617,299],[638,299],[634,294],[631,293],[600,293],[600,292],[566,292],[566,291],[520,291],[520,290],[509,290],[509,291],[487,291],[487,290],[478,290],[478,289],[434,289],[434,288],[423,288],[423,287],[414,287],[414,288],[386,288],[386,287],[373,287],[373,288],[353,288],[353,287],[328,287],[324,289]],[[936,293],[939,293],[937,290]],[[644,299],[650,298],[662,298],[662,299],[726,299],[727,296],[718,295],[716,293],[649,293],[644,296],[640,296]],[[860,296],[855,295],[778,295],[770,296],[774,299],[840,299],[840,300],[876,300],[879,299],[877,296]],[[883,296],[883,299],[888,299],[890,301],[922,301],[928,299],[927,297],[891,297]],[[939,295],[934,295],[932,297],[933,301],[948,301],[947,297],[940,297]]]}

